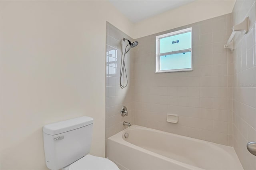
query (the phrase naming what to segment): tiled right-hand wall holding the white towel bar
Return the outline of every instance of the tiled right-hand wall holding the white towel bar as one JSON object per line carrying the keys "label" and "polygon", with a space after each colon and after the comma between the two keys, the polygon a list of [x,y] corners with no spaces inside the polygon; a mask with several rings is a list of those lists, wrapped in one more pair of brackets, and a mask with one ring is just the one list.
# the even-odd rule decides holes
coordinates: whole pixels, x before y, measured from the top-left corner
{"label": "tiled right-hand wall holding the white towel bar", "polygon": [[256,169],[256,156],[246,149],[256,141],[256,2],[237,0],[233,9],[234,25],[249,16],[249,32],[234,38],[234,149],[245,170]]}

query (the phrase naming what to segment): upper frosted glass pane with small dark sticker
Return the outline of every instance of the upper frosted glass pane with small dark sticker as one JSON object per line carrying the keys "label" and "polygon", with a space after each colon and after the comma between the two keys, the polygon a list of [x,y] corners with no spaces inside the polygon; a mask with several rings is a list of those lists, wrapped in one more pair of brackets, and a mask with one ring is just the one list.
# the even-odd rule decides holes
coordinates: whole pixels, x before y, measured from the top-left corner
{"label": "upper frosted glass pane with small dark sticker", "polygon": [[191,32],[160,39],[160,53],[191,48]]}

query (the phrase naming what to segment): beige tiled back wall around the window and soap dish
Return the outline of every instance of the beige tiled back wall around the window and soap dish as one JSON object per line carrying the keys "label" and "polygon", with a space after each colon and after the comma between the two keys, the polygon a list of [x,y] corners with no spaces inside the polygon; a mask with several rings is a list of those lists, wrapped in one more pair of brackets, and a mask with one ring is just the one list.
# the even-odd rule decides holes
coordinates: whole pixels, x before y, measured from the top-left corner
{"label": "beige tiled back wall around the window and soap dish", "polygon": [[[189,27],[193,71],[155,73],[155,37]],[[227,14],[137,39],[135,124],[232,146],[232,53],[224,49],[231,31]],[[177,124],[166,122],[168,113]]]}

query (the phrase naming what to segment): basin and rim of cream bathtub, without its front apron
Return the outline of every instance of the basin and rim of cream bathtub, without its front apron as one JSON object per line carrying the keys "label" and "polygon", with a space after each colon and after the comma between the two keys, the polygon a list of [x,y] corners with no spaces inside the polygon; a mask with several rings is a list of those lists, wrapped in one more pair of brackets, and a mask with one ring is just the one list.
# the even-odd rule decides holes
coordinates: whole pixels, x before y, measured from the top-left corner
{"label": "basin and rim of cream bathtub, without its front apron", "polygon": [[[124,137],[128,133],[128,138]],[[234,149],[186,136],[133,125],[110,137],[130,147],[139,147],[154,154],[206,170],[242,170]]]}

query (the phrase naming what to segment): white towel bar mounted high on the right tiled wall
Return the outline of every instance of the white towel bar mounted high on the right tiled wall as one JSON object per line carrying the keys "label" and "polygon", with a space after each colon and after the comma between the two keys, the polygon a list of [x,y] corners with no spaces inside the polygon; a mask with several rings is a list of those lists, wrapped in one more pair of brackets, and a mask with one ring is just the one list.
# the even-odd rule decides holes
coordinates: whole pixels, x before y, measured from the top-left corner
{"label": "white towel bar mounted high on the right tiled wall", "polygon": [[247,34],[248,28],[249,28],[249,17],[246,17],[243,22],[233,26],[233,31],[228,39],[227,44],[224,45],[224,48],[229,48],[231,51],[233,51],[234,50],[233,38],[236,32],[240,31],[240,32],[244,32],[244,34]]}

